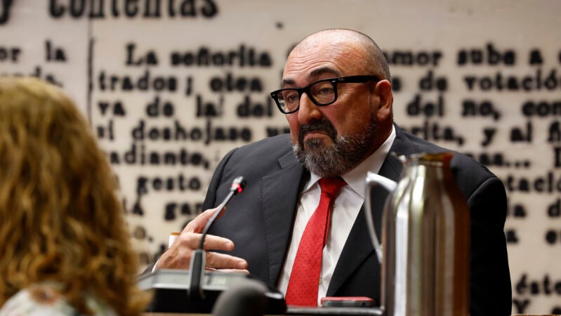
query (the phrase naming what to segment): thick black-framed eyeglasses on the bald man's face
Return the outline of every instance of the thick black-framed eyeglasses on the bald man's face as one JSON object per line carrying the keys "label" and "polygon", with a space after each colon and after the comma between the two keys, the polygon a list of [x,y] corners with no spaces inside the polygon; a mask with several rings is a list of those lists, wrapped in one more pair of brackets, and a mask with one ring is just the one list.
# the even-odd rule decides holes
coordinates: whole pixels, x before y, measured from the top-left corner
{"label": "thick black-framed eyeglasses on the bald man's face", "polygon": [[272,91],[271,98],[275,100],[281,112],[290,114],[300,108],[302,93],[306,93],[315,105],[324,106],[335,103],[337,100],[337,84],[364,84],[368,81],[380,80],[372,75],[323,79],[303,88],[284,88]]}

